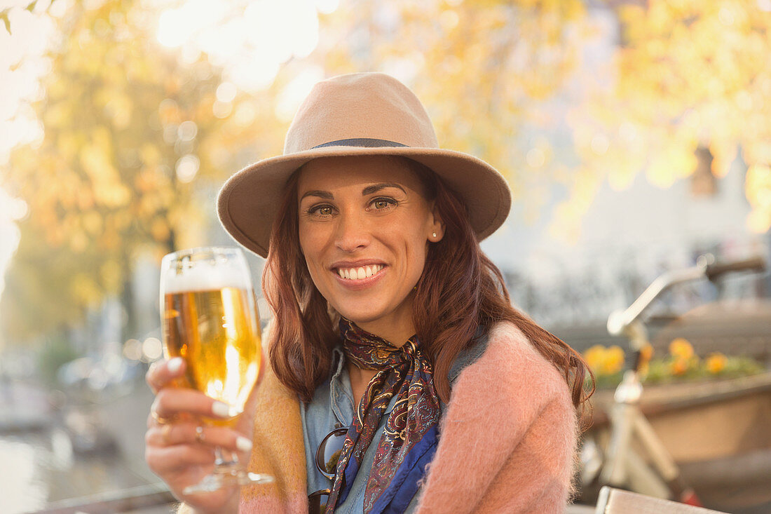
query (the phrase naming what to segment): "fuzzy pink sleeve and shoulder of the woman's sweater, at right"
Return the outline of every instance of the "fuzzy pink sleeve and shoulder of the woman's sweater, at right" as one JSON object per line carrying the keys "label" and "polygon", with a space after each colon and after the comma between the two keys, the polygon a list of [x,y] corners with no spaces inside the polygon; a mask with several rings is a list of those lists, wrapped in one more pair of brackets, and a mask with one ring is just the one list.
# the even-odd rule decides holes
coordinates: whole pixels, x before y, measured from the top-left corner
{"label": "fuzzy pink sleeve and shoulder of the woman's sweater, at right", "polygon": [[512,323],[486,335],[453,383],[419,512],[561,512],[577,437],[567,382]]}

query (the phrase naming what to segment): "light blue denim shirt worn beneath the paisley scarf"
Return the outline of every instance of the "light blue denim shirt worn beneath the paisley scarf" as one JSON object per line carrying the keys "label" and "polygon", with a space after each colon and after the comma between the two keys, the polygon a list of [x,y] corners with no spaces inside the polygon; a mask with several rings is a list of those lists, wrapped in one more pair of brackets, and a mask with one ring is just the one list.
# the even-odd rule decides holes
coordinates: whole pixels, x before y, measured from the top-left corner
{"label": "light blue denim shirt worn beneath the paisley scarf", "polygon": [[[460,372],[478,359],[487,348],[487,336],[478,335],[471,347],[463,350],[456,358],[449,370],[449,380],[452,384]],[[313,399],[308,404],[301,404],[301,421],[303,438],[305,441],[305,468],[308,472],[308,494],[321,489],[332,489],[332,480],[326,478],[318,471],[315,465],[316,450],[322,439],[335,425],[349,427],[353,421],[354,398],[351,388],[351,379],[345,367],[345,355],[342,347],[336,347],[332,358],[332,376],[316,388]],[[385,422],[396,404],[396,396],[391,398],[388,407],[380,418],[379,434],[382,435]],[[446,404],[440,401],[442,416],[446,411]],[[439,435],[441,437],[441,435]],[[335,514],[362,514],[364,512],[364,493],[367,487],[367,479],[375,461],[375,451],[379,444],[379,438],[375,436],[372,444],[362,458],[362,465],[356,474],[351,491],[345,502],[338,505]],[[420,489],[412,497],[412,501],[404,512],[414,512],[418,505]]]}

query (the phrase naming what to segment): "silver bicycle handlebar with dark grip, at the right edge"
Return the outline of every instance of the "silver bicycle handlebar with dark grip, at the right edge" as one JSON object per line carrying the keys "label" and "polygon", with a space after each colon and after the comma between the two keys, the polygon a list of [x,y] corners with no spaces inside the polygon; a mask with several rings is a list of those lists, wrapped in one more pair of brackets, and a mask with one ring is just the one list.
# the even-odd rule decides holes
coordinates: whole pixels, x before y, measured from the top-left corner
{"label": "silver bicycle handlebar with dark grip, at the right edge", "polygon": [[628,306],[625,310],[616,310],[612,312],[611,315],[608,316],[608,332],[614,336],[621,335],[621,333],[623,333],[631,323],[634,323],[643,311],[651,305],[658,295],[677,283],[690,282],[703,277],[714,281],[719,276],[729,272],[761,272],[764,269],[766,269],[766,261],[760,256],[741,261],[717,263],[715,262],[715,257],[711,254],[700,255],[699,259],[696,259],[695,266],[663,273],[651,282],[648,289],[645,289],[631,306]]}

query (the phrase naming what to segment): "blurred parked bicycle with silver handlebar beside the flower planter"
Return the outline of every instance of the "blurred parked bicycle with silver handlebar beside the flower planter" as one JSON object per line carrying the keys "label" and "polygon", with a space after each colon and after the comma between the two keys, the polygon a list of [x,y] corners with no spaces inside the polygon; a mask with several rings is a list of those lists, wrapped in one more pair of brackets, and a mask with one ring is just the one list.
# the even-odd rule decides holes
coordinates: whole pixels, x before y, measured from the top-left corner
{"label": "blurred parked bicycle with silver handlebar beside the flower planter", "polygon": [[[714,282],[729,272],[762,272],[765,268],[766,262],[761,257],[718,263],[710,254],[701,255],[691,268],[658,276],[631,306],[608,316],[608,332],[628,339],[632,360],[614,392],[607,448],[602,451],[597,441],[584,441],[581,450],[584,489],[610,485],[693,506],[702,505],[692,487],[682,479],[674,459],[639,407],[641,369],[651,357],[651,352],[646,351],[650,343],[641,315],[658,296],[675,284],[703,278]],[[641,451],[636,448],[641,448]]]}

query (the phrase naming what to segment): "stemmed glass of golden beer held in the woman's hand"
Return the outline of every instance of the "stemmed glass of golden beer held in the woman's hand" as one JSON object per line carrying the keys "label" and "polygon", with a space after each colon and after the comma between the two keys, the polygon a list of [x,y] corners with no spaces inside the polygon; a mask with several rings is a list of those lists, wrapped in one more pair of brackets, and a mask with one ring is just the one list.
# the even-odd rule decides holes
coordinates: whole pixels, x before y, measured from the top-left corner
{"label": "stemmed glass of golden beer held in the woman's hand", "polygon": [[[186,364],[176,385],[231,406],[231,418],[207,418],[204,423],[234,425],[257,380],[262,355],[257,305],[243,252],[208,247],[164,256],[160,306],[165,356],[182,357]],[[235,453],[226,455],[217,447],[215,454],[214,472],[184,494],[273,479],[246,472]]]}

